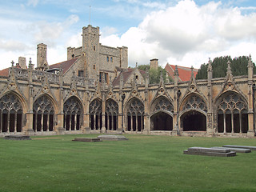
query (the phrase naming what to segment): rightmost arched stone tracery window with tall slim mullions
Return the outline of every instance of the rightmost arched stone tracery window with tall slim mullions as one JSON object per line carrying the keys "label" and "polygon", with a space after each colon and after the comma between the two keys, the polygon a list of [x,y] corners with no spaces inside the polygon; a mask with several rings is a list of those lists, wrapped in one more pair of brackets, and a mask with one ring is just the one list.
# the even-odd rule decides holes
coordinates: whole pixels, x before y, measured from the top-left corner
{"label": "rightmost arched stone tracery window with tall slim mullions", "polygon": [[227,94],[218,104],[218,132],[246,133],[247,130],[246,102],[238,94]]}

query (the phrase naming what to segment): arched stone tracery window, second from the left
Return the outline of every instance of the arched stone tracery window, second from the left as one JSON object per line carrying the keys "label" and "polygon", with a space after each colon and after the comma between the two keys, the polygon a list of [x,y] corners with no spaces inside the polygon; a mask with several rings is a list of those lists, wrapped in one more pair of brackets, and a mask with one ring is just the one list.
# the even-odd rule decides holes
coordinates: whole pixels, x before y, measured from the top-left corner
{"label": "arched stone tracery window, second from the left", "polygon": [[33,130],[54,130],[54,106],[46,95],[38,98],[33,105]]}

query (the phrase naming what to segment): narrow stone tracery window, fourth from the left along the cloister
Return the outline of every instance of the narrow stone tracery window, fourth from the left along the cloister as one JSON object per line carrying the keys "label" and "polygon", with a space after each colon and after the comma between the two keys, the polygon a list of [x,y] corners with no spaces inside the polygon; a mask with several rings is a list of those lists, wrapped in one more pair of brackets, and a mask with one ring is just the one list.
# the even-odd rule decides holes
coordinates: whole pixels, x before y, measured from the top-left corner
{"label": "narrow stone tracery window, fourth from the left along the cloister", "polygon": [[90,102],[89,113],[91,130],[100,130],[102,127],[102,102],[98,99]]}

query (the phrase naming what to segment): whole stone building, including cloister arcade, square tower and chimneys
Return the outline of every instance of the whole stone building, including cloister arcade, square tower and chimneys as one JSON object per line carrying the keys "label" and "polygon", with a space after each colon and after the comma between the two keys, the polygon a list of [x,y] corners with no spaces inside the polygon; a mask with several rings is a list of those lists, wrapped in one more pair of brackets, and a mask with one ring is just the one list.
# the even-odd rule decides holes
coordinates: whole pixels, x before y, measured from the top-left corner
{"label": "whole stone building, including cloister arcade, square tower and chimneys", "polygon": [[[99,28],[82,28],[82,46],[49,65],[38,45],[37,66],[26,58],[0,71],[0,135],[166,134],[254,138],[253,63],[246,76],[149,83],[148,71],[128,68],[128,48],[103,46]],[[152,64],[157,60],[152,59]]]}

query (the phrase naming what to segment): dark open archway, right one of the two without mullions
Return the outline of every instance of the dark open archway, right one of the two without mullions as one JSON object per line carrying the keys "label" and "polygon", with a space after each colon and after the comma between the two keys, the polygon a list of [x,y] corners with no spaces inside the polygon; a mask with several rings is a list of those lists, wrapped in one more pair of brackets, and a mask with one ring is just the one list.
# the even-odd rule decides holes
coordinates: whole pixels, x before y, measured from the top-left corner
{"label": "dark open archway, right one of the two without mullions", "polygon": [[183,131],[206,131],[206,115],[190,110],[181,117]]}

